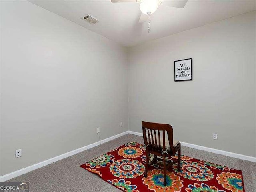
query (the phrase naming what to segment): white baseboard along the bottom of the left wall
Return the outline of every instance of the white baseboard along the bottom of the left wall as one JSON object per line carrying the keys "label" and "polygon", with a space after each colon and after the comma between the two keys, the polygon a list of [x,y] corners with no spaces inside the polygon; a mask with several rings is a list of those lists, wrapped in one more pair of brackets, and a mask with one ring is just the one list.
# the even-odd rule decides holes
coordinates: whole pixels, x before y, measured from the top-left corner
{"label": "white baseboard along the bottom of the left wall", "polygon": [[31,166],[25,167],[25,168],[23,168],[23,169],[20,169],[20,170],[14,171],[14,172],[11,172],[11,173],[9,173],[9,174],[0,176],[0,182],[4,182],[4,181],[7,181],[7,180],[10,180],[10,179],[12,179],[12,178],[14,178],[14,177],[18,177],[18,176],[20,176],[20,175],[23,175],[23,174],[28,173],[28,172],[30,172],[30,171],[36,170],[36,169],[38,169],[38,168],[41,168],[41,167],[43,167],[43,166],[46,166],[46,165],[51,164],[51,163],[53,163],[53,162],[56,162],[56,161],[58,161],[58,160],[64,159],[64,158],[66,158],[66,157],[69,157],[69,156],[72,156],[72,155],[74,155],[74,154],[80,153],[80,152],[82,152],[82,151],[84,151],[84,150],[87,150],[87,149],[93,148],[93,147],[95,147],[95,146],[98,146],[98,145],[100,145],[100,143],[101,143],[101,144],[106,143],[106,142],[108,142],[108,141],[111,141],[111,140],[113,140],[113,139],[116,139],[116,138],[118,138],[118,137],[120,137],[120,136],[123,136],[123,135],[126,135],[126,134],[128,134],[128,131],[123,132],[123,133],[120,133],[120,134],[117,134],[117,135],[114,135],[114,136],[109,137],[109,138],[106,138],[106,139],[104,139],[104,140],[101,140],[100,142],[98,141],[98,142],[95,142],[95,143],[86,145],[86,146],[84,146],[84,147],[75,149],[75,150],[73,150],[73,151],[64,153],[64,154],[62,154],[62,155],[59,155],[59,156],[50,158],[50,159],[48,159],[48,160],[39,162],[39,163],[37,163],[37,164],[33,164],[33,165],[31,165]]}

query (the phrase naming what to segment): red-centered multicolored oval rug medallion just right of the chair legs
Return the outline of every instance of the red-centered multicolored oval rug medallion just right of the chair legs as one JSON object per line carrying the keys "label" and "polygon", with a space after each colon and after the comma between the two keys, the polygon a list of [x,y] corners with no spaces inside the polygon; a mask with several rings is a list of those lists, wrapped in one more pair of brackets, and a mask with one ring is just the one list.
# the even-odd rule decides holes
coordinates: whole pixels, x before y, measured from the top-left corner
{"label": "red-centered multicolored oval rug medallion just right of the chair legs", "polygon": [[196,181],[209,181],[214,174],[206,166],[192,161],[181,161],[181,171],[178,172],[178,165],[173,165],[173,170],[184,178]]}

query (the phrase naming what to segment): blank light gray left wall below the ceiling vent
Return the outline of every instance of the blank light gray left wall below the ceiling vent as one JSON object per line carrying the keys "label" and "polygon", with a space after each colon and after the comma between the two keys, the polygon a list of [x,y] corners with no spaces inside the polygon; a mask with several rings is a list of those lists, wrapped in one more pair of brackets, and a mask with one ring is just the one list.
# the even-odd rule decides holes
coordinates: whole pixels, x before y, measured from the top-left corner
{"label": "blank light gray left wall below the ceiling vent", "polygon": [[0,176],[128,130],[126,48],[16,1],[1,2],[1,55]]}

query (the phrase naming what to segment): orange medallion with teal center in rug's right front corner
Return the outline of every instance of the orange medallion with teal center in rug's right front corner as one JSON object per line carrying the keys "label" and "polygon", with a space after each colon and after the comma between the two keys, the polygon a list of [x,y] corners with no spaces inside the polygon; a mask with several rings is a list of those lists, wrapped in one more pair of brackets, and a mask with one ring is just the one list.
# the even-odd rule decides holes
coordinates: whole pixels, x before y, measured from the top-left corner
{"label": "orange medallion with teal center in rug's right front corner", "polygon": [[232,192],[242,192],[243,191],[243,182],[242,176],[236,173],[223,172],[217,175],[218,183],[221,184],[225,189],[228,189]]}

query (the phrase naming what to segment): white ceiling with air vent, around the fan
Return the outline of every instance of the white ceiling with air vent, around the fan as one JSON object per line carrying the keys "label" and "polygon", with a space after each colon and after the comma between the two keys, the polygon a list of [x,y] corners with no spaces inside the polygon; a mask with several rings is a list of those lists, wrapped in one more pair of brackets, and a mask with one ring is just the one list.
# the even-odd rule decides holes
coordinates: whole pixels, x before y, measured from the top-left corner
{"label": "white ceiling with air vent, around the fan", "polygon": [[[255,0],[188,0],[183,9],[160,5],[151,15],[148,34],[148,23],[138,23],[141,14],[139,3],[111,3],[110,0],[29,1],[127,47],[256,9]],[[81,17],[86,14],[100,22],[92,25],[82,20]]]}

